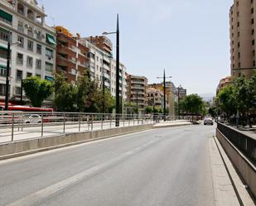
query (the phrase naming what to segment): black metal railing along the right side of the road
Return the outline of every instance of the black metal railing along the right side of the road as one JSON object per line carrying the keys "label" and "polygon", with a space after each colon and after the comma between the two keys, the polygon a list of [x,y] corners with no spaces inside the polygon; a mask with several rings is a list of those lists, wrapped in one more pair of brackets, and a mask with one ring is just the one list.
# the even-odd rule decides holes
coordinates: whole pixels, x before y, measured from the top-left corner
{"label": "black metal railing along the right side of the road", "polygon": [[217,128],[244,156],[256,165],[256,139],[220,122],[218,122]]}

